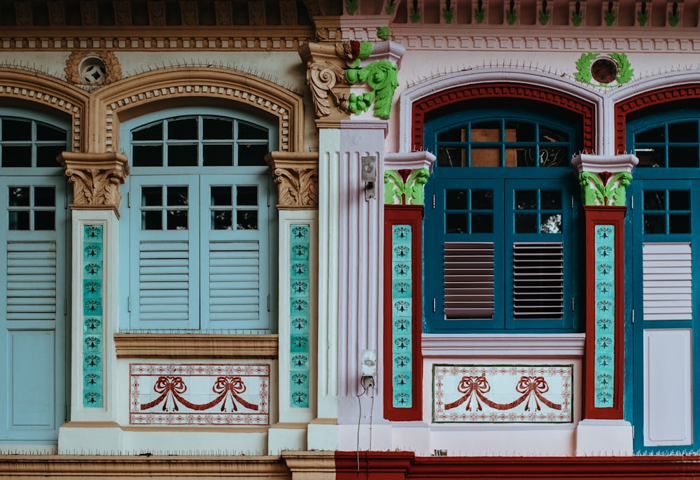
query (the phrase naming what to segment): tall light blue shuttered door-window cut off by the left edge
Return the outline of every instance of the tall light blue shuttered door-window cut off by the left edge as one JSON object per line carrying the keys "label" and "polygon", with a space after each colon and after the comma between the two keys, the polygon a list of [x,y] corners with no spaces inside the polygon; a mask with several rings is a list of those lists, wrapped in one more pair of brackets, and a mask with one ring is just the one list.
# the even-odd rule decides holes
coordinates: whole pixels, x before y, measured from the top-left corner
{"label": "tall light blue shuttered door-window cut off by the left edge", "polygon": [[55,442],[66,420],[69,119],[0,107],[0,444]]}

